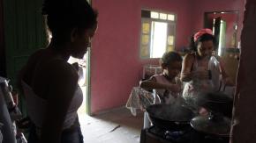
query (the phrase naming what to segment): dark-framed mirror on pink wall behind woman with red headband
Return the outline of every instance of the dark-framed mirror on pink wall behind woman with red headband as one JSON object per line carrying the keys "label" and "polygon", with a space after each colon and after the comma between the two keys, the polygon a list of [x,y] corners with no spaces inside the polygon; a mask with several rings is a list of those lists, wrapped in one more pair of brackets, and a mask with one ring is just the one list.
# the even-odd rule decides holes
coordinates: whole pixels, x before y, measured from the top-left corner
{"label": "dark-framed mirror on pink wall behind woman with red headband", "polygon": [[222,48],[237,48],[238,11],[205,12],[204,26],[213,30],[216,37],[217,53]]}

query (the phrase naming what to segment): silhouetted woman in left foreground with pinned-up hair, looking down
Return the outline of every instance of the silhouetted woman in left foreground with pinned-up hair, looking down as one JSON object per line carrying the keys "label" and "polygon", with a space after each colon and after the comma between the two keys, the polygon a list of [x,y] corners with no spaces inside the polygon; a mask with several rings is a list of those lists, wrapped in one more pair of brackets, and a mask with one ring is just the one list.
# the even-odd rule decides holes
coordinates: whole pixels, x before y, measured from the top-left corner
{"label": "silhouetted woman in left foreground with pinned-up hair, looking down", "polygon": [[82,102],[78,71],[67,61],[87,53],[97,28],[97,12],[84,0],[45,0],[52,39],[47,48],[29,57],[20,72],[33,122],[28,142],[82,143],[77,111]]}

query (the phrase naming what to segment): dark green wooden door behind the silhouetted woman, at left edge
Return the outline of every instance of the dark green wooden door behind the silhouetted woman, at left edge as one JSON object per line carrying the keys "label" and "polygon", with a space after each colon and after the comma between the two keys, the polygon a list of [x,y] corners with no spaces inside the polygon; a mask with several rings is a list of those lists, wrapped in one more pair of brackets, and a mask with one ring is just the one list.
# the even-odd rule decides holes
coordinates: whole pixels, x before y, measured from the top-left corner
{"label": "dark green wooden door behind the silhouetted woman, at left edge", "polygon": [[13,86],[28,56],[47,44],[41,5],[42,0],[3,0],[5,72]]}

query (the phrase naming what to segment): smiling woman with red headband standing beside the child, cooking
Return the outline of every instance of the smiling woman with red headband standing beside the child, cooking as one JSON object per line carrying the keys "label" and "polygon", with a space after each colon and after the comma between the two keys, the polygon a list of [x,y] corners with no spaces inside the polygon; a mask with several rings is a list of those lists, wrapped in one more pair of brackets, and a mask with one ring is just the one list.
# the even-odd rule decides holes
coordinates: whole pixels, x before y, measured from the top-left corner
{"label": "smiling woman with red headband standing beside the child, cooking", "polygon": [[[184,56],[181,80],[185,82],[183,97],[187,103],[197,109],[197,98],[201,93],[214,91],[211,72],[208,68],[210,58],[215,50],[215,36],[210,29],[196,32],[191,40],[192,53]],[[221,62],[221,61],[220,61]],[[220,64],[222,81],[226,85],[233,84]]]}

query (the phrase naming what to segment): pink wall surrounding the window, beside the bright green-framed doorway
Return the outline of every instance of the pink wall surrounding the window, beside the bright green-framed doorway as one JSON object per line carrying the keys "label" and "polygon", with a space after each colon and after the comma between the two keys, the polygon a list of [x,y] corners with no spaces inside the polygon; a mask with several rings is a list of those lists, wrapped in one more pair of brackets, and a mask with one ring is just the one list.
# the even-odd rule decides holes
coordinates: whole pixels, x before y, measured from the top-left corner
{"label": "pink wall surrounding the window, beside the bright green-framed doorway", "polygon": [[142,66],[158,59],[139,58],[140,11],[161,10],[177,14],[176,47],[190,34],[190,0],[93,0],[99,27],[91,54],[91,109],[93,113],[124,105],[131,89],[139,85]]}

